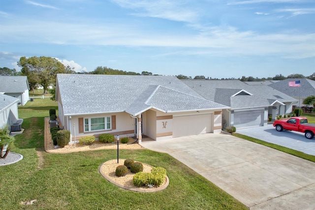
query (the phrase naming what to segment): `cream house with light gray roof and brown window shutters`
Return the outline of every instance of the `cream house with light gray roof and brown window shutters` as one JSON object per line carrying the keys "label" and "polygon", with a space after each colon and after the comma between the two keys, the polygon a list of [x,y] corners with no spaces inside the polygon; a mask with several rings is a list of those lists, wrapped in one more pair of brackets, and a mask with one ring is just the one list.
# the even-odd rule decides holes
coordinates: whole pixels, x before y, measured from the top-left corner
{"label": "cream house with light gray roof and brown window shutters", "polygon": [[[58,74],[59,119],[71,139],[101,133],[154,140],[221,131],[227,106],[175,76]],[[74,132],[75,130],[75,132]]]}

